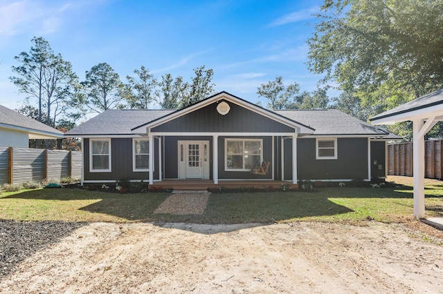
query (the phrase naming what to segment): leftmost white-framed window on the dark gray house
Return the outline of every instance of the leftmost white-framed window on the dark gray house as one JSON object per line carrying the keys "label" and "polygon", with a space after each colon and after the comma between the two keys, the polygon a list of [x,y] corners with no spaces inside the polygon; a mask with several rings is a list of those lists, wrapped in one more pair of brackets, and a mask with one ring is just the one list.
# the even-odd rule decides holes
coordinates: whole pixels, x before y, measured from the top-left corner
{"label": "leftmost white-framed window on the dark gray house", "polygon": [[111,171],[111,139],[89,139],[89,171]]}

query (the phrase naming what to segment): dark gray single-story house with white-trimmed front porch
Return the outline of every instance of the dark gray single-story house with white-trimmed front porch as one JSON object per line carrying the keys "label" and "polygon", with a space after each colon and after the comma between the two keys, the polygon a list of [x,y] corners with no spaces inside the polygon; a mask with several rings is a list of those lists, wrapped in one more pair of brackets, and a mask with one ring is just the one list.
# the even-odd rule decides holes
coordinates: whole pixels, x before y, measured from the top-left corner
{"label": "dark gray single-story house with white-trimmed front porch", "polygon": [[106,110],[65,135],[82,138],[83,183],[150,184],[370,181],[386,176],[395,138],[339,110],[267,110],[228,92],[181,110]]}

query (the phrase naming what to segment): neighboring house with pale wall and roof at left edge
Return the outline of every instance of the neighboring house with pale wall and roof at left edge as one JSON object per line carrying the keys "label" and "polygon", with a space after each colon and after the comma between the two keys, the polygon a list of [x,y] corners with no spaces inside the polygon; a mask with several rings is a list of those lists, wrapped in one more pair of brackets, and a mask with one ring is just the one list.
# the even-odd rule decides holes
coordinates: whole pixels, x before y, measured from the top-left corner
{"label": "neighboring house with pale wall and roof at left edge", "polygon": [[29,139],[60,139],[63,133],[0,105],[0,146],[28,148]]}

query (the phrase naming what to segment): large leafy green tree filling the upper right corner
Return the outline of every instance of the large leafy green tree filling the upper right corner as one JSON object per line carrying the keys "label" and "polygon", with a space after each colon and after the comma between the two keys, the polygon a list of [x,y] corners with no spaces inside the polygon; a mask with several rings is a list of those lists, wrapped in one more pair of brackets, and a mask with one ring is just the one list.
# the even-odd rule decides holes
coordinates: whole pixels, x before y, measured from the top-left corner
{"label": "large leafy green tree filling the upper right corner", "polygon": [[443,0],[325,0],[309,69],[362,101],[386,83],[413,97],[442,88],[442,8]]}

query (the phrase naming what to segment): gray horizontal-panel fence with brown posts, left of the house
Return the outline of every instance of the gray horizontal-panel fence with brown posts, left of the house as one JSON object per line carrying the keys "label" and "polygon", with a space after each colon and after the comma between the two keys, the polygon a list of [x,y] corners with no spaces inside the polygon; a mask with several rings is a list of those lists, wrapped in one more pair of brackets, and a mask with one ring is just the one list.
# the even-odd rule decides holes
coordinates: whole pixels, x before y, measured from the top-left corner
{"label": "gray horizontal-panel fence with brown posts, left of the house", "polygon": [[81,177],[78,151],[0,147],[0,184]]}

